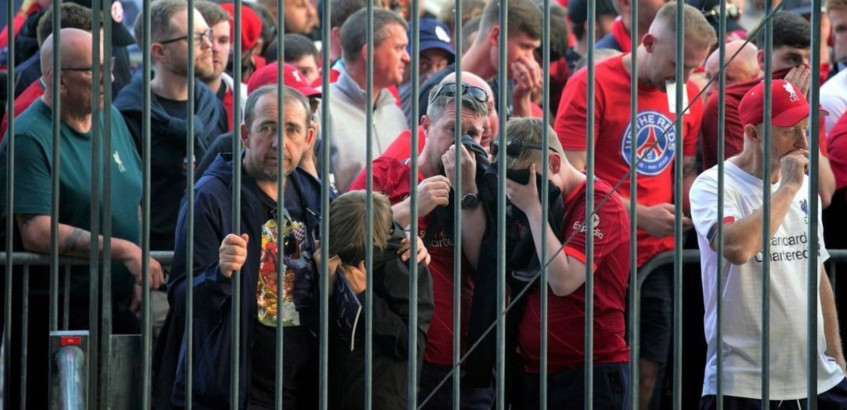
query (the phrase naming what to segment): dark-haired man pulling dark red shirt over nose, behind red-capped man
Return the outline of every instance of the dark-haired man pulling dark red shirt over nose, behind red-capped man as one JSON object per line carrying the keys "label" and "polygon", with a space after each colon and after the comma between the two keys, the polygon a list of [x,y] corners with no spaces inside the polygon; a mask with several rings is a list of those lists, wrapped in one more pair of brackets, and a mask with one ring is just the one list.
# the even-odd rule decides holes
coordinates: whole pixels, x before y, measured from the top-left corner
{"label": "dark-haired man pulling dark red shirt over nose, behind red-capped man", "polygon": [[[756,44],[764,44],[764,35],[756,37]],[[811,27],[809,22],[788,11],[778,11],[773,15],[773,52],[770,54],[773,68],[773,79],[784,79],[797,85],[804,94],[808,95],[810,86],[809,58],[811,56]],[[761,70],[765,66],[765,52],[759,50],[758,61]],[[758,78],[745,83],[728,86],[725,96],[724,118],[724,150],[725,158],[739,154],[744,148],[744,124],[739,119],[738,107],[741,98],[753,86],[761,83],[764,73]],[[713,93],[706,101],[703,109],[703,126],[700,129],[703,138],[703,167],[709,169],[717,165],[717,117],[718,93]],[[827,134],[821,118],[820,152],[818,153],[818,194],[821,196],[821,207],[826,208],[835,190],[833,171],[829,167],[827,152]]]}

